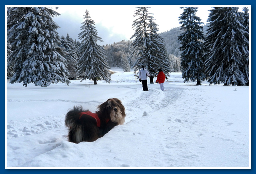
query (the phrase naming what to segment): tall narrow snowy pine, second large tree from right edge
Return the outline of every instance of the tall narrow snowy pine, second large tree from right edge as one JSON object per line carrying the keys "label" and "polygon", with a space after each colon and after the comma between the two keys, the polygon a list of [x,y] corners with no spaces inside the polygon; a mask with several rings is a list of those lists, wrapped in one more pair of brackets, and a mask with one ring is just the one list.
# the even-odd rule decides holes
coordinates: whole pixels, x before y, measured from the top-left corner
{"label": "tall narrow snowy pine, second large tree from right edge", "polygon": [[181,41],[179,48],[181,53],[181,69],[184,83],[188,80],[196,81],[196,85],[201,85],[201,82],[206,79],[204,74],[204,52],[203,52],[203,24],[200,18],[195,15],[197,7],[181,7],[184,12],[179,17],[182,24],[180,30],[183,31],[178,39]]}

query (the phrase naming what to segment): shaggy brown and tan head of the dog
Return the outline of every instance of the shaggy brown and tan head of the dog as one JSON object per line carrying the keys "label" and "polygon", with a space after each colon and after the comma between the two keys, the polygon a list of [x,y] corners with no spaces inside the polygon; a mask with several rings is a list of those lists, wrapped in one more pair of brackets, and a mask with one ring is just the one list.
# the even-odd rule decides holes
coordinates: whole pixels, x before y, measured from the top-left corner
{"label": "shaggy brown and tan head of the dog", "polygon": [[110,98],[98,106],[98,109],[102,114],[106,115],[106,117],[110,117],[112,122],[124,124],[125,108],[119,99]]}

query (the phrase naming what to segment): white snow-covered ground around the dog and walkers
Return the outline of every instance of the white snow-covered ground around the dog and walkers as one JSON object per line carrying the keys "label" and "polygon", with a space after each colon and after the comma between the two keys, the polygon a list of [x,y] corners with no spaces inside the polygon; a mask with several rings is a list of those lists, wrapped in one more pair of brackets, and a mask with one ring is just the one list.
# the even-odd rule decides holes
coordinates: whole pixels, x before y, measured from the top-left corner
{"label": "white snow-covered ground around the dog and walkers", "polygon": [[[133,71],[112,70],[111,83],[98,85],[7,81],[6,168],[251,167],[249,87],[194,86],[171,73],[164,92],[159,84],[143,92]],[[122,100],[125,124],[95,142],[68,142],[68,109],[94,112],[108,98]]]}

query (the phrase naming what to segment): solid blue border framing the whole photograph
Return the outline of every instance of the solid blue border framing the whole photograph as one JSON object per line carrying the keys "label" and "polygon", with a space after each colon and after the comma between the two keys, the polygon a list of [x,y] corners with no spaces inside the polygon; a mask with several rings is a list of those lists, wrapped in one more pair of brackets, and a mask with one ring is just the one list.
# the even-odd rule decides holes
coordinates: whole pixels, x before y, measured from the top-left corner
{"label": "solid blue border framing the whole photograph", "polygon": [[[92,4],[92,5],[97,5],[97,4],[121,4],[121,5],[154,5],[154,4],[174,4],[174,5],[182,5],[182,4],[186,4],[186,5],[211,5],[211,4],[215,4],[215,5],[251,5],[251,87],[254,87],[255,82],[253,81],[254,76],[255,76],[255,70],[254,70],[254,65],[255,64],[255,34],[254,31],[255,30],[255,12],[254,12],[254,8],[256,8],[256,2],[252,1],[252,0],[215,0],[213,2],[209,2],[209,1],[202,1],[202,0],[198,0],[198,1],[191,1],[191,0],[183,0],[181,3],[179,3],[180,1],[166,1],[166,0],[158,0],[158,1],[154,1],[154,0],[129,0],[129,1],[118,1],[118,0],[110,0],[110,1],[106,1],[106,0],[97,0],[97,1],[82,1],[82,0],[75,0],[75,1],[67,1],[67,0],[44,0],[44,1],[34,1],[34,0],[26,0],[26,1],[18,1],[18,0],[12,0],[12,1],[7,1],[7,0],[3,0],[2,3],[2,10],[1,10],[1,14],[2,14],[2,18],[1,18],[1,24],[2,27],[0,28],[1,30],[1,55],[5,58],[5,36],[4,36],[4,32],[5,32],[5,6],[4,5],[62,5],[62,4]],[[2,68],[0,69],[2,71],[2,78],[4,80],[5,79],[5,59],[1,60],[1,66]],[[5,87],[4,85],[2,85],[3,91],[5,91]],[[16,174],[16,173],[24,173],[24,174],[32,174],[34,172],[38,173],[38,174],[43,174],[43,173],[64,173],[64,174],[68,174],[70,172],[74,172],[71,170],[76,170],[77,172],[86,172],[86,173],[109,173],[109,174],[119,174],[120,172],[122,172],[122,174],[128,174],[130,172],[133,173],[147,173],[147,174],[155,174],[156,172],[160,172],[161,174],[174,174],[174,173],[195,173],[195,174],[212,174],[212,173],[225,173],[225,172],[230,172],[230,173],[244,173],[244,174],[250,174],[255,171],[254,168],[254,156],[255,156],[255,151],[254,151],[254,147],[255,147],[255,143],[254,143],[254,133],[255,133],[255,129],[254,129],[254,123],[255,123],[255,119],[254,119],[254,110],[253,110],[253,106],[254,106],[254,90],[251,90],[251,169],[5,169],[5,144],[2,143],[1,145],[1,156],[2,156],[2,167],[0,168],[0,171],[2,174]],[[2,93],[2,98],[4,98],[4,94]],[[3,110],[4,108],[4,104],[2,104]],[[4,114],[2,115],[2,118],[4,118]],[[3,119],[4,120],[4,119]],[[2,130],[3,130],[3,137],[5,137],[4,133],[5,133],[5,122],[2,122]]]}

